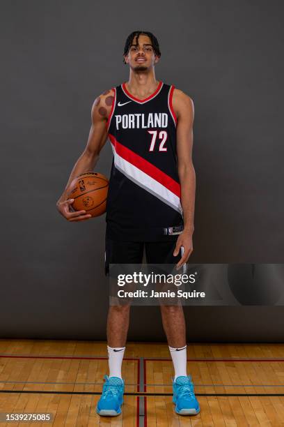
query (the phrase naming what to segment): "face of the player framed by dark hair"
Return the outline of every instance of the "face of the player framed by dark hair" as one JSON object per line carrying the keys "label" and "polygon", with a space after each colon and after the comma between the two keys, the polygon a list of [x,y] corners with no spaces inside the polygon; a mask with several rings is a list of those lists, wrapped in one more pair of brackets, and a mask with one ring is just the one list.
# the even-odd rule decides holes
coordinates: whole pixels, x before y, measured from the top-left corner
{"label": "face of the player framed by dark hair", "polygon": [[129,63],[130,68],[134,71],[146,71],[155,66],[158,61],[159,58],[155,55],[150,38],[140,34],[136,45],[136,37],[134,37],[129,52],[125,56],[125,62]]}

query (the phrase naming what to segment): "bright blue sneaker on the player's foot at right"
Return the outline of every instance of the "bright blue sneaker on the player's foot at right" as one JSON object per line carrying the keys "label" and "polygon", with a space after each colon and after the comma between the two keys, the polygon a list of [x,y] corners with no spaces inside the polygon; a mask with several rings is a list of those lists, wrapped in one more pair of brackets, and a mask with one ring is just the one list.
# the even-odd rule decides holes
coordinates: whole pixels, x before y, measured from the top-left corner
{"label": "bright blue sneaker on the player's foot at right", "polygon": [[188,377],[178,377],[173,382],[173,403],[175,403],[175,412],[177,414],[197,415],[200,412],[190,375]]}

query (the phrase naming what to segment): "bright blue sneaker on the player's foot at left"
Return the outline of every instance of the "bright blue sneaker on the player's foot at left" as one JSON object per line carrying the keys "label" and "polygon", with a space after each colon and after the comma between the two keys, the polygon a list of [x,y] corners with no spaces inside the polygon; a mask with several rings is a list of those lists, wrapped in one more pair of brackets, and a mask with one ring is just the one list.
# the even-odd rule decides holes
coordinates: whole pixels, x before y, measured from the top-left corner
{"label": "bright blue sneaker on the player's foot at left", "polygon": [[125,384],[118,377],[104,375],[104,380],[102,396],[97,402],[97,414],[103,417],[116,417],[121,414]]}

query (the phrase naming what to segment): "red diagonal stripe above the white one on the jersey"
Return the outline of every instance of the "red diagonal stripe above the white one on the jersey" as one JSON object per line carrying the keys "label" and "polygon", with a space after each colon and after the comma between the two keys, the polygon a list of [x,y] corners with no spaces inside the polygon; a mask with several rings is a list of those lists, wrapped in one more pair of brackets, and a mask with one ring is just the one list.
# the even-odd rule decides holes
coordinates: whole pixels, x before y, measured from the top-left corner
{"label": "red diagonal stripe above the white one on the jersey", "polygon": [[162,186],[168,188],[168,190],[180,197],[180,184],[177,181],[169,177],[158,167],[152,165],[148,160],[145,160],[145,158],[139,156],[139,154],[134,153],[134,151],[120,144],[113,135],[109,134],[109,139],[120,157],[132,163],[132,165],[138,167],[142,172],[145,172],[149,177],[155,179],[157,182],[161,183]]}

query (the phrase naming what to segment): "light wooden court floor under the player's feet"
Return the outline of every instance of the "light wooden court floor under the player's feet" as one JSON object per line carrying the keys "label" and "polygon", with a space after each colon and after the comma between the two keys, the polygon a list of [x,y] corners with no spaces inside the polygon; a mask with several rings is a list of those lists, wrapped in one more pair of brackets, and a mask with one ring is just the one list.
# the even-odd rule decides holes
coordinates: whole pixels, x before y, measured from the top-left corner
{"label": "light wooden court floor under the player's feet", "polygon": [[105,343],[91,341],[0,340],[0,412],[54,416],[1,426],[284,426],[284,345],[189,345],[196,417],[173,410],[173,368],[160,343],[127,344],[123,414],[98,417],[106,355]]}

